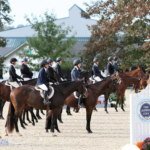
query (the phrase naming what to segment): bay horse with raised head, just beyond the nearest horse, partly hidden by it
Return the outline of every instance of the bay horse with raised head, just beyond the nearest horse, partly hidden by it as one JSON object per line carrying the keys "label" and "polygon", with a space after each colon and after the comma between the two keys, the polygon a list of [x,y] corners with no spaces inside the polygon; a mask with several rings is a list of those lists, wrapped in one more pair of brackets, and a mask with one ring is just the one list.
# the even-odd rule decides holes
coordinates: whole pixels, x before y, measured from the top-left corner
{"label": "bay horse with raised head, just beyond the nearest horse, partly hidden by it", "polygon": [[[121,78],[120,78],[120,73],[116,72],[113,74],[111,77],[105,78],[101,82],[97,82],[92,85],[86,85],[87,91],[88,91],[88,97],[83,99],[83,104],[86,108],[86,120],[87,120],[87,125],[86,125],[86,130],[88,133],[92,133],[90,129],[90,121],[91,121],[91,116],[94,107],[97,104],[97,99],[98,97],[107,90],[108,86],[110,83],[115,83],[119,82],[121,84]],[[65,100],[65,105],[73,108],[78,108],[78,99],[74,97],[74,94],[72,93],[66,100]],[[51,114],[52,111],[49,111],[49,117],[47,118],[46,121],[46,131],[51,128]],[[58,126],[55,125],[56,130],[59,131]]]}

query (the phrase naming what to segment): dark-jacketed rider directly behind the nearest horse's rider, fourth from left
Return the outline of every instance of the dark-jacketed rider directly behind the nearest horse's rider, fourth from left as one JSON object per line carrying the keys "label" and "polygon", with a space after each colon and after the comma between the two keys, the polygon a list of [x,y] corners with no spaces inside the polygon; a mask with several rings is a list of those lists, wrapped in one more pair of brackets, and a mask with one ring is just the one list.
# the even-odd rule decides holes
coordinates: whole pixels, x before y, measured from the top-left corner
{"label": "dark-jacketed rider directly behind the nearest horse's rider, fourth from left", "polygon": [[57,82],[57,80],[54,76],[54,69],[52,68],[53,60],[50,58],[50,59],[48,59],[47,62],[49,63],[47,71],[46,71],[47,72],[47,79],[48,79],[49,82],[55,83],[55,82]]}

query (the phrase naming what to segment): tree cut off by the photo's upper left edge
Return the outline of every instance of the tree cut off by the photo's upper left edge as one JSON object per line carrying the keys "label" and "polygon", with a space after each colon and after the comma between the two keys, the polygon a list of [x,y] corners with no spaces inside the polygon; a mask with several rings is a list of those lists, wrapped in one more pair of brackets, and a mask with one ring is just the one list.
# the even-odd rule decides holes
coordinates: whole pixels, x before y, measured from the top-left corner
{"label": "tree cut off by the photo's upper left edge", "polygon": [[[11,8],[8,0],[0,0],[0,30],[3,29],[5,24],[11,24],[13,22],[12,16],[10,16]],[[5,38],[0,37],[0,47],[6,46]]]}

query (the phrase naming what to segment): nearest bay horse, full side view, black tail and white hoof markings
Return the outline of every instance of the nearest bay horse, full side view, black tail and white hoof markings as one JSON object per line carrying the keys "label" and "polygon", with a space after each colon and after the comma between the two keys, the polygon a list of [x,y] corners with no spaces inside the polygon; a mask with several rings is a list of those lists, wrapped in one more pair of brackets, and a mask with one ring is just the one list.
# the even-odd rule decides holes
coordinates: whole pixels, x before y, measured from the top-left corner
{"label": "nearest bay horse, full side view, black tail and white hoof markings", "polygon": [[[52,132],[54,133],[54,124],[57,122],[57,112],[64,105],[65,99],[73,93],[73,91],[78,91],[79,93],[86,95],[86,89],[83,84],[83,79],[74,82],[67,82],[60,85],[52,85],[54,88],[54,95],[50,99],[50,105],[43,104],[43,98],[40,96],[40,92],[35,89],[34,86],[24,85],[19,88],[14,89],[11,94],[11,103],[9,107],[9,112],[7,116],[6,126],[11,133],[16,128],[16,132],[20,135],[18,129],[18,117],[20,117],[25,105],[42,110],[51,109],[53,114],[52,119]],[[6,130],[7,135],[7,130]]]}

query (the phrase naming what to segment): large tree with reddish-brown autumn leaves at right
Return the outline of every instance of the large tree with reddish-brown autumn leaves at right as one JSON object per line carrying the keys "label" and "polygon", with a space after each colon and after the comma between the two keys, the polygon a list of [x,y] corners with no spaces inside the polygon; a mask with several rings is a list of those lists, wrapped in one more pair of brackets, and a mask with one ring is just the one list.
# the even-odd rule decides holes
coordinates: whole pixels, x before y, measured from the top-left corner
{"label": "large tree with reddish-brown autumn leaves at right", "polygon": [[99,19],[88,27],[92,34],[82,53],[85,63],[98,57],[104,68],[109,56],[119,56],[123,70],[145,63],[148,67],[150,43],[144,40],[150,37],[149,0],[100,0],[86,6],[85,16]]}

